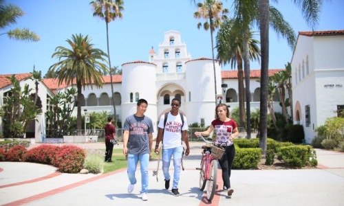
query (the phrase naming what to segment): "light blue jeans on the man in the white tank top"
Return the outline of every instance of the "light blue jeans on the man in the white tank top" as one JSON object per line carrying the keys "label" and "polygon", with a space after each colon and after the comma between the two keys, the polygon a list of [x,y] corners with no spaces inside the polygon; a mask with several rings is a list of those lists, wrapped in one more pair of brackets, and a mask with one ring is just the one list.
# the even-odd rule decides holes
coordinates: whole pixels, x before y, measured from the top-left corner
{"label": "light blue jeans on the man in the white tank top", "polygon": [[170,148],[170,149],[162,150],[162,172],[164,172],[164,178],[166,180],[171,179],[171,176],[169,174],[169,167],[170,167],[171,157],[173,155],[174,173],[173,173],[172,189],[178,188],[178,183],[180,179],[180,168],[182,164],[182,153],[183,153],[182,146],[178,148]]}

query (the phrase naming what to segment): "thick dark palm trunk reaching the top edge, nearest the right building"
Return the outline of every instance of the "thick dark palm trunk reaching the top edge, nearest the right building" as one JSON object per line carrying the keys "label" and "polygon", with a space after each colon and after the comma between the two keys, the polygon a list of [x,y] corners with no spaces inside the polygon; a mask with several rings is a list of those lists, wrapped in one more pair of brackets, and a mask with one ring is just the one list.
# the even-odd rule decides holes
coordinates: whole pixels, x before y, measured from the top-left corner
{"label": "thick dark palm trunk reaching the top edge, nearest the right building", "polygon": [[269,0],[259,0],[259,27],[261,42],[259,146],[262,154],[265,155],[268,135]]}

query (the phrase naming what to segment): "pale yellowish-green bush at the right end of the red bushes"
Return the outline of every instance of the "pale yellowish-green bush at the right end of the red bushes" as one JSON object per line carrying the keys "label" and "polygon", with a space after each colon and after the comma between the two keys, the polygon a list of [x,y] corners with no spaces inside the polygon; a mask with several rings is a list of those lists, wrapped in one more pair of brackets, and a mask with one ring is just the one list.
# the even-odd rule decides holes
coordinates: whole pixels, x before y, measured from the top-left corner
{"label": "pale yellowish-green bush at the right end of the red bushes", "polygon": [[84,168],[93,174],[103,172],[104,167],[104,152],[100,150],[87,150],[87,157],[85,159]]}

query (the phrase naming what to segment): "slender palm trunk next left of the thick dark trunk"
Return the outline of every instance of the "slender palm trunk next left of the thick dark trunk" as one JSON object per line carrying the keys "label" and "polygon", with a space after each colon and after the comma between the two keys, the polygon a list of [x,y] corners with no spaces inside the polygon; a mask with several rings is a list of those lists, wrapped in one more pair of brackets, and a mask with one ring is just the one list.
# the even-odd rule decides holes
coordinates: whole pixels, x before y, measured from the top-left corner
{"label": "slender palm trunk next left of the thick dark trunk", "polygon": [[[245,31],[247,32],[247,30]],[[247,35],[244,34],[243,38],[243,57],[244,57],[244,72],[245,72],[245,91],[246,91],[246,134],[247,139],[251,139],[251,122],[250,122],[250,56],[248,54],[248,41]]]}

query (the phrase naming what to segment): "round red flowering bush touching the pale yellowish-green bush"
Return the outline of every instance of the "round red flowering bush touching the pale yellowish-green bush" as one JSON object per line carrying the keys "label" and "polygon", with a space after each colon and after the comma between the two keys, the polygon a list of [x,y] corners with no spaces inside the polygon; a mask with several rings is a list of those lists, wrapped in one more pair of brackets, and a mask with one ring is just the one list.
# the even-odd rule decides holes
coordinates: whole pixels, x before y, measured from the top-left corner
{"label": "round red flowering bush touching the pale yellowish-green bush", "polygon": [[61,172],[78,173],[83,169],[86,152],[77,146],[62,146],[56,155],[56,166]]}

